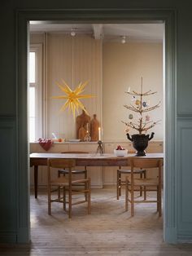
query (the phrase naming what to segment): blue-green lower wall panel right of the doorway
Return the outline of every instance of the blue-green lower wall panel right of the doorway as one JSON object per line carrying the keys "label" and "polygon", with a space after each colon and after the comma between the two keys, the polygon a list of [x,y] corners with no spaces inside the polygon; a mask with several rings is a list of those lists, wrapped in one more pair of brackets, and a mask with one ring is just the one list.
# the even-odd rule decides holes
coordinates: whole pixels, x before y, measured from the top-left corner
{"label": "blue-green lower wall panel right of the doorway", "polygon": [[189,233],[192,228],[192,193],[190,192],[192,121],[179,121],[178,135],[178,227],[180,232],[182,230],[184,233]]}

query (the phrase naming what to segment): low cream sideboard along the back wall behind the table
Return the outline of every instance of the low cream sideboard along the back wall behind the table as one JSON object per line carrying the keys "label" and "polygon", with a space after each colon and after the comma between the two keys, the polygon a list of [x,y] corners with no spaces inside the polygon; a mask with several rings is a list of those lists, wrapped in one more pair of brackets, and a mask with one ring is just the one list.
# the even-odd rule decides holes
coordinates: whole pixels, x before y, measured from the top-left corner
{"label": "low cream sideboard along the back wall behind the table", "polygon": [[[133,146],[131,142],[126,141],[108,141],[103,143],[103,149],[106,153],[113,153],[116,146],[120,144],[122,147],[127,148],[129,152],[133,152]],[[54,143],[48,152],[63,152],[63,151],[86,151],[97,152],[97,142],[63,142]],[[30,143],[30,152],[46,152],[39,143]],[[164,143],[162,141],[151,141],[149,143],[146,152],[164,152]],[[92,188],[103,188],[103,185],[115,185],[116,184],[116,167],[89,167],[88,174],[91,178]],[[154,177],[155,172],[149,172],[149,177]],[[31,171],[31,186],[34,184],[33,168]],[[39,166],[38,172],[39,186],[46,185],[46,166]]]}

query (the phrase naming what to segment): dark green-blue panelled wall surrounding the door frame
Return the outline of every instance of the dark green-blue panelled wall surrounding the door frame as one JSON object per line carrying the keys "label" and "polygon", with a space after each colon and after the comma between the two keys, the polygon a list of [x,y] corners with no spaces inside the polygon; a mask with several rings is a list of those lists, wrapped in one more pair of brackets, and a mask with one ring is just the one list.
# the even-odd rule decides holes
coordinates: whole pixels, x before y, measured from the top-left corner
{"label": "dark green-blue panelled wall surrounding the door frame", "polygon": [[[176,241],[185,241],[192,239],[192,187],[189,180],[192,180],[192,171],[190,168],[190,145],[192,143],[192,19],[190,10],[190,0],[117,0],[117,1],[18,1],[3,0],[1,2],[1,83],[0,83],[0,156],[1,156],[1,179],[0,179],[0,242],[22,242],[28,241],[28,212],[22,215],[20,205],[28,205],[28,196],[24,196],[19,201],[20,193],[28,193],[28,183],[25,183],[25,176],[20,176],[22,160],[24,166],[28,161],[27,141],[25,137],[19,138],[20,130],[23,129],[18,118],[17,110],[17,69],[15,65],[17,58],[25,58],[22,52],[20,56],[16,55],[16,15],[18,11],[33,10],[60,10],[60,9],[84,9],[84,8],[107,8],[107,9],[157,9],[157,10],[175,10],[176,11],[176,67],[177,72],[174,75],[174,88],[177,91],[176,100],[176,126],[173,127],[173,133],[176,135],[174,143],[168,147],[175,148],[175,156],[171,156],[175,166],[174,181],[171,192],[175,194],[176,211],[174,223],[176,223],[175,236]],[[170,50],[171,51],[171,50]],[[174,51],[174,49],[173,49]],[[19,67],[20,68],[20,67]],[[20,91],[25,95],[24,91]],[[169,95],[168,95],[169,97]],[[169,106],[168,106],[169,107]],[[24,105],[25,109],[26,106]],[[174,119],[174,117],[173,117]],[[23,147],[24,145],[24,147]],[[21,152],[20,148],[26,148]],[[18,160],[19,155],[19,161]],[[23,157],[23,158],[22,158]],[[176,160],[175,160],[176,159]],[[169,161],[169,159],[167,159]],[[20,163],[18,165],[18,162]],[[169,170],[167,170],[169,171]],[[26,170],[27,173],[27,170]],[[26,174],[27,177],[27,174]],[[8,195],[8,200],[7,196]],[[166,206],[170,207],[170,206]],[[23,221],[24,220],[24,221]],[[20,224],[22,223],[22,224]],[[20,227],[20,228],[19,228]],[[172,235],[171,235],[172,236]]]}

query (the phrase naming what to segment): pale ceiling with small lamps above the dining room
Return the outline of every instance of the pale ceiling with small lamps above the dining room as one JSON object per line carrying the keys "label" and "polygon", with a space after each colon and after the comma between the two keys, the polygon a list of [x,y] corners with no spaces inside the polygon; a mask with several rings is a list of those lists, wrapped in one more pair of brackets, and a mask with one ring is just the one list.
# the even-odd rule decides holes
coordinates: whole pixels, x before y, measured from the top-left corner
{"label": "pale ceiling with small lamps above the dining room", "polygon": [[[163,42],[164,24],[63,24],[50,21],[30,21],[31,33],[52,32],[90,34],[95,39],[125,42]],[[123,41],[122,41],[123,42]]]}

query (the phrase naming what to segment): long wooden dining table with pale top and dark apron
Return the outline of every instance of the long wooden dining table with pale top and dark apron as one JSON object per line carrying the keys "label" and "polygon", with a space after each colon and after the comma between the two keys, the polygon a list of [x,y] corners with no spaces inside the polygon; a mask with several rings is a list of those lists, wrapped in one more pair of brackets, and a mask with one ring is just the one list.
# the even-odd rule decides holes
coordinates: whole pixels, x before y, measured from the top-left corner
{"label": "long wooden dining table with pale top and dark apron", "polygon": [[[49,158],[70,158],[76,160],[76,166],[129,166],[131,157],[137,157],[134,153],[124,157],[116,157],[113,153],[55,153],[55,152],[33,152],[30,154],[30,166],[34,166],[34,192],[37,198],[38,188],[38,166],[47,166]],[[141,158],[141,157],[139,157]],[[142,158],[164,159],[164,153],[146,153]],[[159,174],[161,177],[161,174]],[[161,180],[159,180],[161,183]]]}

